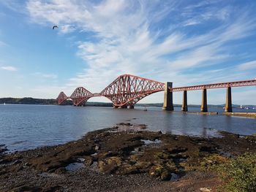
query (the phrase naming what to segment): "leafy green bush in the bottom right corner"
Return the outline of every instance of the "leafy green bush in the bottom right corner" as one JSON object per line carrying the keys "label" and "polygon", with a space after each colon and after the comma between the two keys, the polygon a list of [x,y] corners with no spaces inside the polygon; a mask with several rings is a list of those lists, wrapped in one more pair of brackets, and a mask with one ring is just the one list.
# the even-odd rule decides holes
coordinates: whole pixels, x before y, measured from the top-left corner
{"label": "leafy green bush in the bottom right corner", "polygon": [[256,153],[245,153],[217,169],[225,184],[222,191],[256,191]]}

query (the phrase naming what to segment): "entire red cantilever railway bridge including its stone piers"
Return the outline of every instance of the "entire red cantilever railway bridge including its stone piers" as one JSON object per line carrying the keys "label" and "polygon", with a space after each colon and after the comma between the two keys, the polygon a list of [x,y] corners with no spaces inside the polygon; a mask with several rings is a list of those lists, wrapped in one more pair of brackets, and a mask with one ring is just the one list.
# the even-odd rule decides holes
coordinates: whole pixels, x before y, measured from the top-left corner
{"label": "entire red cantilever railway bridge including its stone piers", "polygon": [[201,111],[207,112],[206,90],[210,88],[227,88],[226,112],[232,112],[231,87],[256,85],[256,80],[243,80],[236,82],[219,82],[208,85],[194,85],[188,87],[173,88],[172,82],[157,82],[131,74],[123,74],[116,78],[100,93],[91,93],[86,88],[76,88],[71,96],[64,92],[59,93],[56,99],[57,104],[63,104],[67,99],[72,99],[75,106],[83,105],[88,99],[94,96],[105,96],[110,99],[115,108],[134,108],[135,104],[144,97],[165,91],[163,110],[173,110],[173,92],[184,91],[181,110],[187,111],[187,91],[203,90]]}

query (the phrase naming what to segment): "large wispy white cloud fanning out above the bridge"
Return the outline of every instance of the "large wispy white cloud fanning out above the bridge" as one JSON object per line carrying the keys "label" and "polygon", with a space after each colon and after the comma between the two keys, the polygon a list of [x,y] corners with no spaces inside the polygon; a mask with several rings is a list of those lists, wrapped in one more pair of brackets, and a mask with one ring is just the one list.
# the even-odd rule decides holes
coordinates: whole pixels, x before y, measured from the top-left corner
{"label": "large wispy white cloud fanning out above the bridge", "polygon": [[[175,13],[178,5],[174,3],[167,4],[159,12],[154,8],[161,6],[159,1],[148,4],[147,1],[124,0],[99,3],[37,0],[28,1],[26,7],[31,20],[36,23],[57,24],[64,34],[72,31],[80,31],[80,36],[83,32],[92,34],[90,38],[84,38],[90,40],[81,38],[78,42],[78,56],[85,61],[85,69],[72,77],[66,86],[83,85],[91,92],[99,92],[124,73],[159,81],[175,80],[176,84],[236,80],[238,72],[226,75],[222,71],[214,72],[212,66],[232,57],[232,47],[228,43],[252,34],[255,19],[233,12],[230,6],[211,7],[219,1],[207,2],[184,9],[178,7],[178,15]],[[209,8],[205,12],[195,12],[206,5]],[[177,17],[180,22],[172,23],[171,20]],[[157,28],[157,23],[162,20],[167,20],[170,27]],[[220,24],[192,35],[184,30],[209,20]],[[200,68],[204,70],[187,72]]]}

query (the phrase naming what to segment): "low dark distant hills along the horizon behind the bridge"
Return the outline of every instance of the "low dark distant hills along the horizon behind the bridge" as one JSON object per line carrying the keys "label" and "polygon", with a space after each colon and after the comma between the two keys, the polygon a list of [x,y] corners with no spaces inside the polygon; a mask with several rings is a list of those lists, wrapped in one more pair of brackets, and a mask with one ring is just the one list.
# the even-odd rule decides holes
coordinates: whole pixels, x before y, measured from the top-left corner
{"label": "low dark distant hills along the horizon behind the bridge", "polygon": [[[24,98],[0,98],[0,104],[56,104],[56,99],[34,99],[31,97]],[[64,101],[63,105],[72,105],[71,100]],[[86,102],[86,106],[99,106],[99,107],[112,107],[112,103],[104,103],[104,102]],[[154,104],[136,104],[136,106],[140,107],[162,107],[162,103],[154,103]],[[240,107],[238,104],[233,104],[233,107]],[[173,104],[173,107],[181,107],[181,104]],[[189,104],[189,107],[200,107],[199,104]],[[225,107],[225,104],[208,104],[208,107]],[[244,105],[243,107],[253,108],[255,105]]]}

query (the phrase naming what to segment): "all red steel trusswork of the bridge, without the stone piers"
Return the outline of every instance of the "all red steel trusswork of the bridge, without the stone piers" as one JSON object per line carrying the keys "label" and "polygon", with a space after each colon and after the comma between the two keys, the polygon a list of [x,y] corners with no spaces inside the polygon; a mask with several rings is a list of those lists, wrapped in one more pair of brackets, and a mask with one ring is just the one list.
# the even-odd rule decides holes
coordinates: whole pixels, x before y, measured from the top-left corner
{"label": "all red steel trusswork of the bridge, without the stone piers", "polygon": [[[244,80],[236,82],[219,82],[207,85],[194,85],[180,88],[169,88],[170,91],[193,91],[210,88],[227,88],[256,85],[256,80]],[[113,102],[115,107],[134,107],[134,105],[144,97],[165,90],[165,83],[148,80],[131,74],[123,74],[116,78],[100,93],[91,93],[86,88],[76,88],[71,96],[66,96],[64,92],[59,93],[56,99],[58,104],[63,104],[67,99],[72,99],[75,106],[86,103],[93,96],[105,96]]]}

